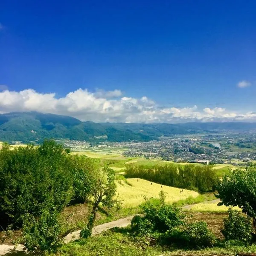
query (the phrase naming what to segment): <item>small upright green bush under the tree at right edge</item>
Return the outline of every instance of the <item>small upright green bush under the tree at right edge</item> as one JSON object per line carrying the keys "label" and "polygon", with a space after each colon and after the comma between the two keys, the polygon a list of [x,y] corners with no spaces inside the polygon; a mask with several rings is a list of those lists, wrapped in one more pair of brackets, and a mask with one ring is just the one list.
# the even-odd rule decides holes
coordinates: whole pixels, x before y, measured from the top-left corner
{"label": "small upright green bush under the tree at right edge", "polygon": [[252,220],[241,212],[228,210],[228,218],[224,219],[224,229],[221,230],[226,240],[237,240],[249,243],[252,240]]}

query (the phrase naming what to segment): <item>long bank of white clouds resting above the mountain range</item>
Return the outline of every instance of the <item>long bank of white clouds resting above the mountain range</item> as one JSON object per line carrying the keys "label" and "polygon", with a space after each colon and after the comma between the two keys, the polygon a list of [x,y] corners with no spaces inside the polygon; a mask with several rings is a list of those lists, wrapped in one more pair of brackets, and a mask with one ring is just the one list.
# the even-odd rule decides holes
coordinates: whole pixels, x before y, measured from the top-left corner
{"label": "long bank of white clouds resting above the mountain range", "polygon": [[256,113],[236,113],[225,108],[161,107],[142,98],[122,96],[120,90],[90,92],[78,89],[65,97],[55,93],[38,93],[27,89],[20,92],[0,91],[0,113],[38,111],[76,117],[94,122],[191,122],[191,121],[256,121]]}

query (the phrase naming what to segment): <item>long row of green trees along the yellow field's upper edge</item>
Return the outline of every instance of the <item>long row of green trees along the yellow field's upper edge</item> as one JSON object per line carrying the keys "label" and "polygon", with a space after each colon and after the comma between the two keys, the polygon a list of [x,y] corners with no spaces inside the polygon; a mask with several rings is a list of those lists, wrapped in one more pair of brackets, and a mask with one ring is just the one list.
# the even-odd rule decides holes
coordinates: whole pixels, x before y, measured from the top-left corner
{"label": "long row of green trees along the yellow field's upper edge", "polygon": [[214,191],[218,182],[212,167],[192,164],[155,165],[150,168],[128,165],[126,167],[126,176],[128,178],[141,178],[181,189],[191,189],[201,193]]}

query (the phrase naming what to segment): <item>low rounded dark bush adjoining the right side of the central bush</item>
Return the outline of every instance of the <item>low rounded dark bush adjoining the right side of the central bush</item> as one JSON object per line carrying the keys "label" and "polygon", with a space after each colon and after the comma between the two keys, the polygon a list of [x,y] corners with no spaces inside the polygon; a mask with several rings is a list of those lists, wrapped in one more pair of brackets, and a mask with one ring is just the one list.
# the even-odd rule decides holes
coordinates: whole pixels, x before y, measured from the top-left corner
{"label": "low rounded dark bush adjoining the right side of the central bush", "polygon": [[209,247],[216,242],[214,234],[208,229],[204,221],[192,222],[177,227],[168,231],[164,238],[169,243],[177,243],[193,249]]}

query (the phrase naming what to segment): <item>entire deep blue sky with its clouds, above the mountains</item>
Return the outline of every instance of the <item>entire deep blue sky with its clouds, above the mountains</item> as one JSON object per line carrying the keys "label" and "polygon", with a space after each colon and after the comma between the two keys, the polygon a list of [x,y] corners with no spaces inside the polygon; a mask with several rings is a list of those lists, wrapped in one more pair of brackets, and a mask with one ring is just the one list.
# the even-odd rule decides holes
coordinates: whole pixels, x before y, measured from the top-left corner
{"label": "entire deep blue sky with its clouds, above the mountains", "polygon": [[[194,112],[225,108],[220,112],[246,116],[256,111],[255,10],[255,0],[3,0],[0,112],[31,109],[93,119],[88,104],[72,105],[72,111],[59,107],[67,98],[75,101],[67,96],[81,88],[81,102],[102,98],[108,103],[99,104],[112,112],[125,97],[130,103],[120,103],[123,109],[152,112],[196,105]],[[120,93],[106,96],[114,90]],[[47,93],[54,93],[52,108],[31,103]],[[143,96],[150,107],[138,107]],[[101,112],[95,121],[140,121],[131,118],[131,110],[115,116],[106,107],[95,108]],[[143,122],[172,121],[153,114]]]}

